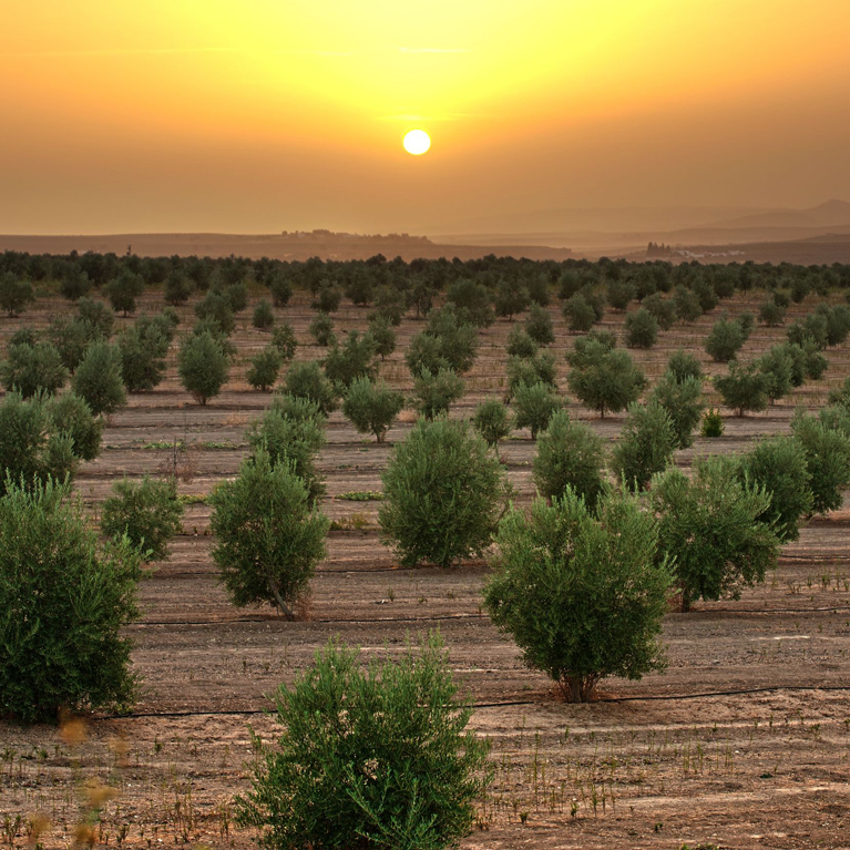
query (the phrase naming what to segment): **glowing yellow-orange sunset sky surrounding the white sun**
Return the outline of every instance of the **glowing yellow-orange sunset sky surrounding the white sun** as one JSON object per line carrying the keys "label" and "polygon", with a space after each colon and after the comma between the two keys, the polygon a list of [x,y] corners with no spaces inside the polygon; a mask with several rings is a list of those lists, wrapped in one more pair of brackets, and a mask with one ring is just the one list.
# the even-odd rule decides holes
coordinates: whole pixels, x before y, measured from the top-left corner
{"label": "glowing yellow-orange sunset sky surrounding the white sun", "polygon": [[848,0],[0,0],[0,233],[850,201]]}

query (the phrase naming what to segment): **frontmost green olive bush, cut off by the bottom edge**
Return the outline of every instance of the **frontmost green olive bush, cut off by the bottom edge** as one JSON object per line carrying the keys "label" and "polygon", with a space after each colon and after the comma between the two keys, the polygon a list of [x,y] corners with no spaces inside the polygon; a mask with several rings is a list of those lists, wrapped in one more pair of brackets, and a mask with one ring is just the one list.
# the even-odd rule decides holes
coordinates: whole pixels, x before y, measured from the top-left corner
{"label": "frontmost green olive bush, cut off by the bottom edge", "polygon": [[275,707],[280,737],[254,735],[252,788],[236,798],[267,850],[442,850],[469,832],[489,745],[465,731],[472,708],[438,637],[366,669],[331,642]]}

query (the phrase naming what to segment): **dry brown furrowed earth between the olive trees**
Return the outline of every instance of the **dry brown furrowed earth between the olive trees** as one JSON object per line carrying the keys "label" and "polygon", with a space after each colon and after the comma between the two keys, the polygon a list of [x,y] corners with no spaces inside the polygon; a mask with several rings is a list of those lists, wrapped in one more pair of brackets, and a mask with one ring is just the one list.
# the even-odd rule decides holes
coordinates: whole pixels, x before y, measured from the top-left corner
{"label": "dry brown furrowed earth between the olive trees", "polygon": [[[304,344],[298,357],[320,356],[307,345],[308,299],[299,294],[294,300],[278,315]],[[746,306],[757,305],[736,300],[730,309]],[[161,307],[155,296],[144,305],[147,311]],[[0,334],[43,326],[62,309],[61,301],[42,299],[23,318],[2,320]],[[185,327],[191,310],[183,311]],[[344,307],[337,325],[362,327],[366,315]],[[194,477],[181,492],[206,494],[236,472],[246,451],[245,428],[269,400],[244,382],[245,358],[267,339],[249,327],[247,316],[235,337],[233,380],[207,407],[192,403],[180,387],[174,348],[157,391],[131,397],[107,428],[101,457],[78,477],[86,504],[94,509],[116,478],[161,469],[168,453],[163,447],[174,439],[194,447]],[[610,329],[621,328],[622,316],[606,319]],[[678,326],[651,351],[633,354],[657,377],[677,346],[703,354],[713,320]],[[560,317],[556,327],[553,350],[565,392],[563,354],[572,335]],[[401,350],[420,328],[421,322],[404,320]],[[481,399],[502,391],[509,329],[499,321],[482,332],[455,416],[469,416]],[[781,335],[757,328],[745,359]],[[848,373],[850,347],[828,355],[823,380],[765,414],[727,418],[725,437],[698,439],[677,462],[688,465],[709,451],[743,451],[761,434],[787,431],[795,404],[821,404]],[[711,373],[723,370],[706,367]],[[396,386],[410,387],[399,351],[381,371]],[[570,411],[612,440],[623,423],[622,416],[600,421],[574,402]],[[492,741],[495,781],[480,803],[477,830],[462,843],[468,850],[850,847],[849,512],[810,522],[800,540],[785,547],[765,584],[739,601],[670,613],[664,675],[605,680],[597,701],[565,705],[544,676],[522,666],[514,645],[482,613],[483,562],[454,570],[399,569],[378,539],[378,503],[340,498],[380,490],[391,447],[410,428],[411,417],[403,419],[390,431],[389,444],[378,446],[355,433],[340,413],[331,417],[320,459],[328,487],[324,509],[349,530],[330,533],[328,560],[299,622],[227,603],[211,560],[209,509],[187,506],[184,534],[143,582],[144,616],[129,629],[134,665],[144,678],[133,714],[86,718],[88,739],[78,745],[53,727],[0,723],[0,821],[8,817],[0,843],[24,846],[40,812],[52,826],[39,841],[69,846],[81,817],[82,782],[98,778],[119,791],[103,810],[94,836],[99,844],[253,846],[254,834],[233,822],[232,798],[247,787],[247,725],[266,738],[275,733],[263,714],[269,706],[264,695],[290,682],[335,635],[360,645],[367,657],[391,656],[407,635],[439,628],[455,675],[477,705],[473,726]],[[518,502],[526,504],[533,495],[534,444],[518,433],[502,443],[501,454]]]}

